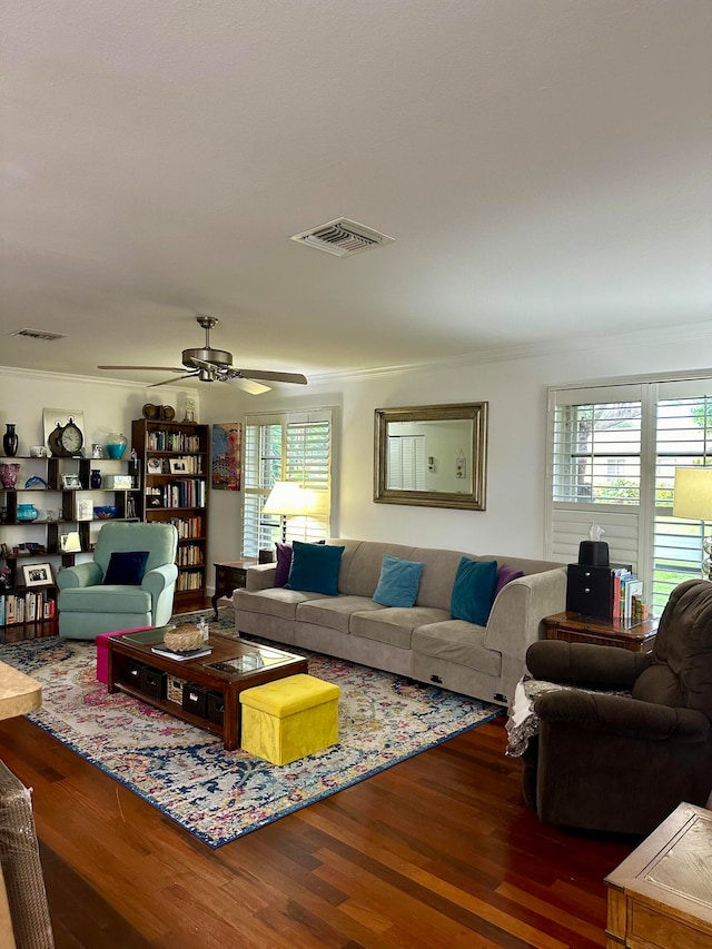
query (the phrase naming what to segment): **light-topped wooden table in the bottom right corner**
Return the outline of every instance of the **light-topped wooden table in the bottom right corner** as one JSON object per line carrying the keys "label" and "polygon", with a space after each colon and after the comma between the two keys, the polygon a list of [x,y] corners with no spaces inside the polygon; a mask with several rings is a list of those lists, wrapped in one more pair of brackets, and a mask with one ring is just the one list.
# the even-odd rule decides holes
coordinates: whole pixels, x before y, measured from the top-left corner
{"label": "light-topped wooden table in the bottom right corner", "polygon": [[607,949],[712,946],[712,811],[680,804],[605,878]]}

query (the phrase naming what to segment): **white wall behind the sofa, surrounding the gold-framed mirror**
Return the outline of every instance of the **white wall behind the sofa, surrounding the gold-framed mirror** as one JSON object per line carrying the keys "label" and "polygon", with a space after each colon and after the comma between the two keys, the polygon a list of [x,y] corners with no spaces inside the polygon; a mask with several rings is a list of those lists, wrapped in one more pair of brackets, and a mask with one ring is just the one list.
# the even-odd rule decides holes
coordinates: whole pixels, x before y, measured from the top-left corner
{"label": "white wall behind the sofa, surrounding the gold-framed mirror", "polygon": [[[556,353],[540,353],[498,362],[473,362],[431,372],[374,376],[334,385],[308,386],[244,398],[248,411],[307,405],[339,405],[342,437],[335,457],[335,517],[340,536],[442,546],[484,554],[543,556],[546,388],[635,374],[665,374],[699,369],[701,354],[712,352],[709,335],[688,339],[601,339],[587,348],[566,344]],[[206,397],[206,415],[214,411],[215,388]],[[486,511],[409,507],[373,501],[374,409],[447,402],[490,403]],[[245,404],[240,399],[240,404]],[[204,419],[201,419],[204,421]],[[215,421],[228,421],[222,417]],[[212,512],[218,504],[212,495]],[[216,535],[228,527],[236,505],[222,504]],[[233,556],[237,547],[233,547]]]}

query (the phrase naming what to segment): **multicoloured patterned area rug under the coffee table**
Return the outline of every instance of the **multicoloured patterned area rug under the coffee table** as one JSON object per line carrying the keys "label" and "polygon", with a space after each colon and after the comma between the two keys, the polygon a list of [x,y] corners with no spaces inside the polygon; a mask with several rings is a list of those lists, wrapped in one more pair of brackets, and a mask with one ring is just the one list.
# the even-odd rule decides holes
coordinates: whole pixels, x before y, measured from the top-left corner
{"label": "multicoloured patterned area rug under the coffee table", "polygon": [[[196,615],[196,614],[192,614]],[[180,622],[191,616],[180,616]],[[211,629],[234,629],[224,607]],[[427,748],[502,709],[344,660],[296,650],[337,683],[339,743],[276,767],[117,693],[96,679],[91,642],[58,637],[2,646],[3,662],[42,682],[28,718],[210,847],[220,847]]]}

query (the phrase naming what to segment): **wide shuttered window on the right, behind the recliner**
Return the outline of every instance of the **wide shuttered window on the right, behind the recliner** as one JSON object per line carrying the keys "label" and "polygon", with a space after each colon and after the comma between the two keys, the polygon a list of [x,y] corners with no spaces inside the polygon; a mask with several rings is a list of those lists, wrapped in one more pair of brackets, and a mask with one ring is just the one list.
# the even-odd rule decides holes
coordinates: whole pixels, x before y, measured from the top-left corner
{"label": "wide shuttered window on the right, behind the recliner", "polygon": [[672,515],[675,467],[712,466],[712,380],[552,389],[548,431],[546,556],[575,563],[597,524],[660,615],[712,533]]}

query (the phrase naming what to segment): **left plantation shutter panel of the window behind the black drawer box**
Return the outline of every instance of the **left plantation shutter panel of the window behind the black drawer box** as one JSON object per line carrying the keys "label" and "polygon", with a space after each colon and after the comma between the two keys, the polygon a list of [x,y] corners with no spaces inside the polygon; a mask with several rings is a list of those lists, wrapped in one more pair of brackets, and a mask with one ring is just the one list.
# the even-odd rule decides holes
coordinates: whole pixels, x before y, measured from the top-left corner
{"label": "left plantation shutter panel of the window behind the black drawer box", "polygon": [[596,524],[611,558],[637,570],[642,453],[640,386],[551,392],[547,557],[575,563]]}

